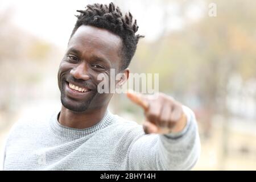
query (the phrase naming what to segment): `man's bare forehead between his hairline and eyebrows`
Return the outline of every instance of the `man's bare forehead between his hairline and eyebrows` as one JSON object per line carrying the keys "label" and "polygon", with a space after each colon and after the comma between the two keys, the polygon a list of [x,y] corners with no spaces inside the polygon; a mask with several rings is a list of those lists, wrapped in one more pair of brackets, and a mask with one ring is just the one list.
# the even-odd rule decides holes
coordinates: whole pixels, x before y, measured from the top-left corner
{"label": "man's bare forehead between his hairline and eyebrows", "polygon": [[81,53],[94,53],[118,59],[122,39],[105,30],[93,26],[80,26],[69,40],[68,48],[75,48]]}

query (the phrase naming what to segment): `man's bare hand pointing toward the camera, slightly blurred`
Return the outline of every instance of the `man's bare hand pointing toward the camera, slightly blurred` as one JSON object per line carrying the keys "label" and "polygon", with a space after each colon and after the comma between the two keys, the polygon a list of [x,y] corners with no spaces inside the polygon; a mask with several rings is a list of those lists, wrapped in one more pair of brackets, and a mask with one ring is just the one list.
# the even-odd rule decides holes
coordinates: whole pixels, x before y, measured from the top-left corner
{"label": "man's bare hand pointing toward the camera, slightly blurred", "polygon": [[158,96],[127,92],[127,97],[144,109],[146,121],[143,129],[146,134],[169,134],[182,131],[187,123],[187,117],[179,102],[166,94]]}

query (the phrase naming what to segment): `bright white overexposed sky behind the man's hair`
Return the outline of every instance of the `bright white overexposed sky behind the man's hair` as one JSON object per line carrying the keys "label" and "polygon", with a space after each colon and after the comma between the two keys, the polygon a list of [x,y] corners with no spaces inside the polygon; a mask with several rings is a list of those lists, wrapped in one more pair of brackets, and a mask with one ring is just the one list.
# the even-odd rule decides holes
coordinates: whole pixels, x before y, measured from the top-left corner
{"label": "bright white overexposed sky behind the man's hair", "polygon": [[[76,10],[84,9],[89,3],[109,3],[106,0],[1,0],[0,11],[10,10],[12,22],[42,39],[66,47],[68,38],[76,22]],[[167,6],[168,18],[159,6],[159,1],[115,1],[122,11],[130,10],[137,19],[138,33],[146,35],[146,40],[155,40],[162,33],[162,25],[166,24],[167,30],[179,30],[184,26],[184,20],[179,16],[179,6],[175,3]],[[143,3],[142,3],[143,2]],[[201,2],[201,1],[199,1]],[[200,6],[191,6],[187,14],[191,20],[199,19],[202,15]],[[144,8],[146,7],[146,8]],[[153,14],[152,11],[156,13]],[[153,20],[153,24],[151,21]]]}

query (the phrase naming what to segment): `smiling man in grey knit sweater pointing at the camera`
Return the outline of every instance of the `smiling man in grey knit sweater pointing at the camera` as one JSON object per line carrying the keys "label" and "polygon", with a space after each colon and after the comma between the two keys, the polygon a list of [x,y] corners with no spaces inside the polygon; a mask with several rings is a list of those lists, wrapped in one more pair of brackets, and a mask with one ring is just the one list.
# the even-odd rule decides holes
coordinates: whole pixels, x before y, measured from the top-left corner
{"label": "smiling man in grey knit sweater pointing at the camera", "polygon": [[173,98],[127,93],[144,109],[143,127],[108,110],[112,93],[99,93],[100,73],[129,77],[141,35],[136,20],[113,3],[79,10],[60,63],[61,110],[49,119],[16,123],[7,139],[6,170],[187,170],[200,153],[193,112]]}

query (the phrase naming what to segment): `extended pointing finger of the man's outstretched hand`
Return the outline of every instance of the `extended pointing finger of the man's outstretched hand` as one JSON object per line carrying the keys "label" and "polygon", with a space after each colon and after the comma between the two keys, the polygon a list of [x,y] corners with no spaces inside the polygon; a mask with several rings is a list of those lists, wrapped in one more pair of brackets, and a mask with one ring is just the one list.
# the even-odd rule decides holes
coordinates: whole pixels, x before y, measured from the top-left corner
{"label": "extended pointing finger of the man's outstretched hand", "polygon": [[128,90],[126,95],[131,101],[141,106],[144,110],[148,109],[147,99],[142,94],[134,92],[133,90]]}

